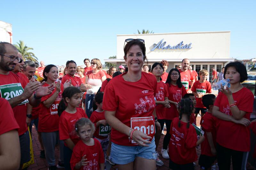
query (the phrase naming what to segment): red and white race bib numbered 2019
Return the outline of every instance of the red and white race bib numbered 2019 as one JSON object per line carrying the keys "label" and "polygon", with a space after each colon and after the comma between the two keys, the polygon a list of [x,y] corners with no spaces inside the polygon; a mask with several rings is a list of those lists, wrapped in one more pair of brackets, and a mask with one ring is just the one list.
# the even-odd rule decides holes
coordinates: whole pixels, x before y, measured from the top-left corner
{"label": "red and white race bib numbered 2019", "polygon": [[[146,135],[150,136],[151,139],[147,139],[151,141],[155,135],[155,121],[153,116],[150,117],[131,117],[131,128],[142,131]],[[132,140],[132,144],[137,144]],[[137,144],[138,145],[138,144]]]}

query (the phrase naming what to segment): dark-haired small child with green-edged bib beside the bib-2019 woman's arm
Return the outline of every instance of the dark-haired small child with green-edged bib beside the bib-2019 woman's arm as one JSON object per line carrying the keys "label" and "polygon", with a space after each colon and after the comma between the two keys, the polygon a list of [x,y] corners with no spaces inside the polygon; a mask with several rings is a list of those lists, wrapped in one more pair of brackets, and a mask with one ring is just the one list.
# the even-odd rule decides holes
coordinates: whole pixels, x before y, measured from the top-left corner
{"label": "dark-haired small child with green-edged bib beside the bib-2019 woman's arm", "polygon": [[92,112],[90,120],[92,121],[92,123],[94,123],[96,128],[93,136],[100,142],[104,152],[104,156],[106,156],[111,126],[108,125],[105,119],[105,111],[102,110],[102,101],[103,93],[99,92],[94,97],[94,101],[92,104],[92,108],[94,111]]}

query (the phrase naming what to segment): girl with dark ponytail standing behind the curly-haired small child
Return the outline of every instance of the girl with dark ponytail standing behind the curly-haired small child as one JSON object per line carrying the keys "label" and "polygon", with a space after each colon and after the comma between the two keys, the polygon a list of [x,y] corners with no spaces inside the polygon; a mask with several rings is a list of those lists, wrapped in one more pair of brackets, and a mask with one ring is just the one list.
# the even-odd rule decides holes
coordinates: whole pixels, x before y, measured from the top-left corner
{"label": "girl with dark ponytail standing behind the curly-haired small child", "polygon": [[70,159],[72,150],[79,140],[74,133],[76,121],[81,117],[87,117],[84,110],[79,107],[81,103],[82,92],[76,87],[68,87],[62,93],[62,100],[58,106],[60,116],[59,133],[60,140],[64,140],[64,167],[70,168]]}

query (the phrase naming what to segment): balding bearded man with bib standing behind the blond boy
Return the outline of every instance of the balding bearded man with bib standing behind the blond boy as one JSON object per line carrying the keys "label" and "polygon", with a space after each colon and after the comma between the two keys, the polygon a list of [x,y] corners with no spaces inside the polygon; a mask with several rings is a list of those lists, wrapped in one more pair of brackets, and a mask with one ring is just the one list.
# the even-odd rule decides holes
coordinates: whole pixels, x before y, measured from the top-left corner
{"label": "balding bearded man with bib standing behind the blond boy", "polygon": [[190,90],[188,87],[188,83],[191,80],[191,87],[193,87],[193,84],[195,82],[195,79],[191,73],[191,71],[188,70],[190,61],[188,59],[183,59],[181,62],[182,68],[180,71],[180,80],[182,85],[185,87],[187,92]]}

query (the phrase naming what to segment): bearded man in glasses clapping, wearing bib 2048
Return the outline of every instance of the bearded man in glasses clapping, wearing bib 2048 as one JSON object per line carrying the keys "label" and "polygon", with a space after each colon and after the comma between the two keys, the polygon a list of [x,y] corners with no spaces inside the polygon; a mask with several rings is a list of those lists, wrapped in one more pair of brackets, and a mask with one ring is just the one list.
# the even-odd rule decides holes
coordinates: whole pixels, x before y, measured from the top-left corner
{"label": "bearded man in glasses clapping, wearing bib 2048", "polygon": [[[20,126],[18,134],[20,139],[21,167],[30,160],[26,103],[29,102],[32,106],[37,106],[41,102],[41,97],[51,94],[54,87],[53,84],[42,87],[40,82],[27,82],[25,79],[12,73],[15,65],[20,61],[21,58],[18,57],[18,50],[15,46],[10,43],[0,42],[0,94],[1,97],[10,103],[15,120]],[[12,145],[12,141],[9,141],[6,147],[9,145]]]}

